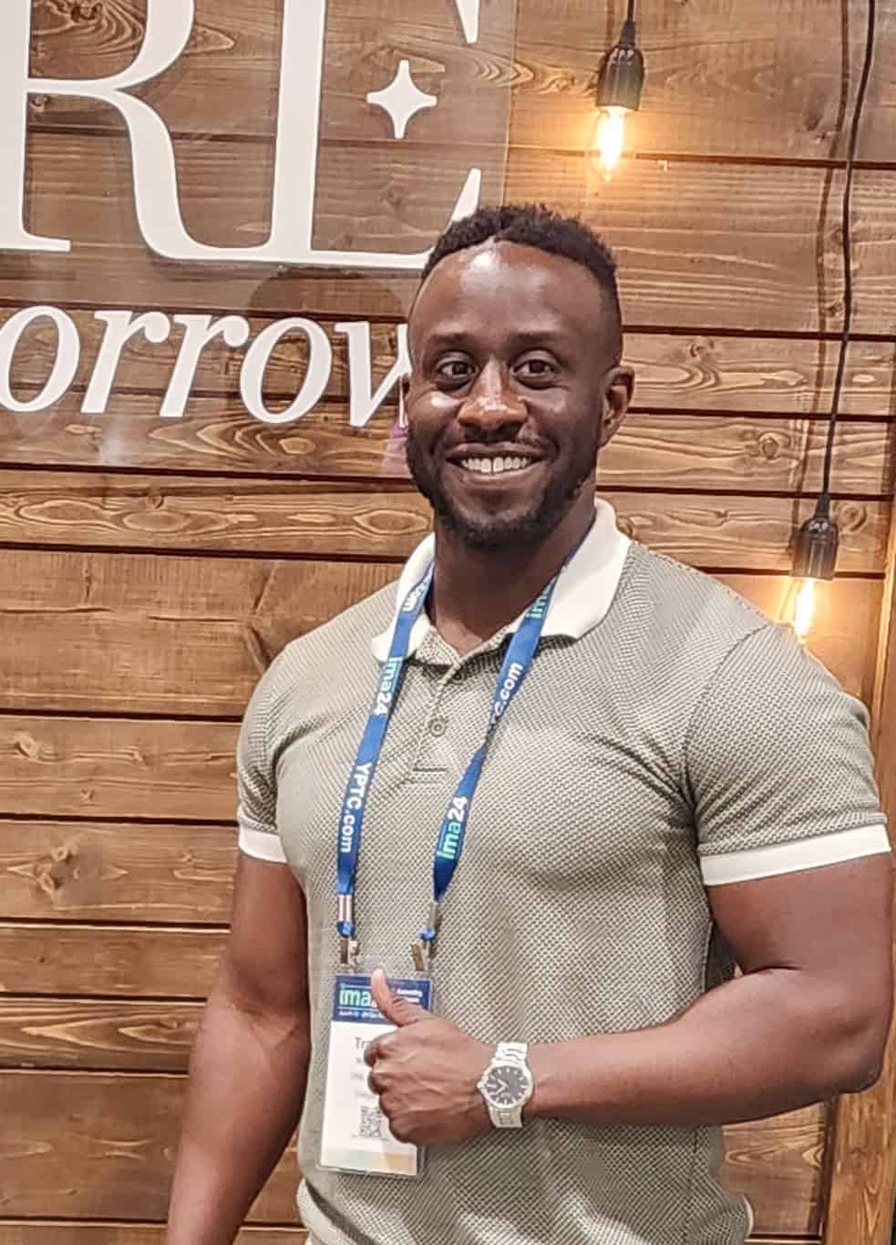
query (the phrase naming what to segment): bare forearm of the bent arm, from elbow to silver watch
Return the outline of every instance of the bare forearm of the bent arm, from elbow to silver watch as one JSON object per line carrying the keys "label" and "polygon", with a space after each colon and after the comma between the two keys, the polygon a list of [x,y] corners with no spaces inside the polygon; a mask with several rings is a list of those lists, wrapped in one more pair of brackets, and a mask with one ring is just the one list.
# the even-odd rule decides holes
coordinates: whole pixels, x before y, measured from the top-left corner
{"label": "bare forearm of the bent arm, from elbow to silver watch", "polygon": [[806,989],[795,970],[754,972],[656,1028],[533,1046],[526,1116],[688,1125],[775,1116],[872,1083],[879,1031],[841,991]]}

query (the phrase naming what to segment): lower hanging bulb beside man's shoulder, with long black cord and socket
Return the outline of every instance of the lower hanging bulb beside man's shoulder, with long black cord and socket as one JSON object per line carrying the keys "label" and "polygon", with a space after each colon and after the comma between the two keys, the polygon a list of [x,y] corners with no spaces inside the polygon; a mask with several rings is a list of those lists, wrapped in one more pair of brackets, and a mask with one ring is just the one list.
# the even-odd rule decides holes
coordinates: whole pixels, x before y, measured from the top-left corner
{"label": "lower hanging bulb beside man's shoulder, with long black cord and socket", "polygon": [[825,444],[821,492],[815,503],[815,513],[803,524],[796,534],[794,548],[793,578],[801,580],[795,595],[793,629],[803,640],[808,635],[816,600],[815,585],[819,580],[834,579],[839,545],[836,523],[830,517],[830,481],[834,462],[834,442],[836,437],[840,401],[844,377],[846,375],[846,354],[852,334],[852,178],[855,157],[859,146],[859,127],[861,125],[865,96],[867,95],[871,65],[874,62],[875,35],[877,30],[877,0],[867,0],[867,35],[865,39],[865,62],[862,65],[859,92],[856,95],[850,127],[849,148],[846,151],[846,182],[842,198],[842,261],[844,261],[844,322],[840,335],[840,355],[834,380],[831,413],[828,422],[828,442]]}

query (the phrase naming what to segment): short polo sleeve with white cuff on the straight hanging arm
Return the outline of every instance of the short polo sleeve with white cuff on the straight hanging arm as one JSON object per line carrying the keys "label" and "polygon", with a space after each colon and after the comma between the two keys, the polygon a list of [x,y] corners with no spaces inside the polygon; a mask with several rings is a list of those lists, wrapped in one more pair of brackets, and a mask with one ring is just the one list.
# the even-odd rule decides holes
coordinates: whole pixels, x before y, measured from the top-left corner
{"label": "short polo sleeve with white cuff on the straight hanging arm", "polygon": [[245,711],[236,745],[239,847],[259,860],[285,863],[276,827],[276,772],[271,762],[269,698],[271,670],[261,677]]}

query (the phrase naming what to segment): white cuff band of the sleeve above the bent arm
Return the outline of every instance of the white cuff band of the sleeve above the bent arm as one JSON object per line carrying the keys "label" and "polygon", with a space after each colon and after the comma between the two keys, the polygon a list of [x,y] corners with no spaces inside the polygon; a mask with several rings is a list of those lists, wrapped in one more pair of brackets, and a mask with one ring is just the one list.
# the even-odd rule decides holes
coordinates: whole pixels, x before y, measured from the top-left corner
{"label": "white cuff band of the sleeve above the bent arm", "polygon": [[701,858],[701,873],[707,886],[724,886],[732,881],[753,881],[774,878],[800,869],[820,869],[842,864],[860,857],[879,855],[890,850],[890,839],[882,825],[862,825],[834,834],[818,834],[794,843],[774,843],[749,852],[723,852]]}

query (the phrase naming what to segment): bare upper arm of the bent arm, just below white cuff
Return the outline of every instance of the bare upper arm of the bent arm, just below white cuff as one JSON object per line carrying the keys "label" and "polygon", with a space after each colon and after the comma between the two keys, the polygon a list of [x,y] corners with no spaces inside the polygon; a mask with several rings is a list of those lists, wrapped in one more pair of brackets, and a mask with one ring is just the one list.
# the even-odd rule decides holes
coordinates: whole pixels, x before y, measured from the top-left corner
{"label": "bare upper arm of the bent arm, just below white cuff", "polygon": [[753,881],[712,886],[716,924],[744,974],[798,969],[816,980],[891,994],[892,862],[889,853]]}

